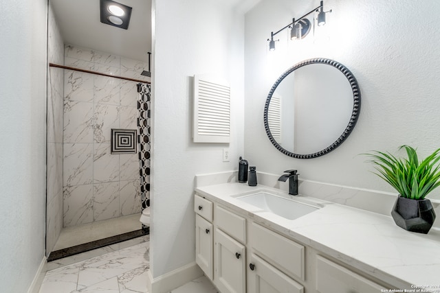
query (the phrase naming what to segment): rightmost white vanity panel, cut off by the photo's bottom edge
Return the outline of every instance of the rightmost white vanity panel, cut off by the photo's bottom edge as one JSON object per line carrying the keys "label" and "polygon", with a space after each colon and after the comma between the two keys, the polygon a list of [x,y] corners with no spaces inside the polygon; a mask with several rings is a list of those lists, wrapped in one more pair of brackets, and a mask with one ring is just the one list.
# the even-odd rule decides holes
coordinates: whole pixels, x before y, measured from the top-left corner
{"label": "rightmost white vanity panel, cut off by the photo's bottom edge", "polygon": [[316,256],[316,290],[320,293],[377,293],[384,289],[333,261]]}

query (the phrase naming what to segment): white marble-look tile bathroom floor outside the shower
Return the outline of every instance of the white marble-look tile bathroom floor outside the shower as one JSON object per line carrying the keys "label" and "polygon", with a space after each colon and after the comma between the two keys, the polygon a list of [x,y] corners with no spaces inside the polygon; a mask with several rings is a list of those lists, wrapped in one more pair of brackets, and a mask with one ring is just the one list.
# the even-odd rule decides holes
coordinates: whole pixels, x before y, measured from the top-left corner
{"label": "white marble-look tile bathroom floor outside the shower", "polygon": [[[101,248],[107,253],[94,256],[94,250],[78,256],[61,259],[49,266],[40,293],[148,293],[146,289],[149,268],[149,235]],[[128,246],[128,247],[127,247]],[[86,258],[87,255],[90,257]],[[83,258],[81,261],[64,265]],[[73,260],[72,260],[73,259]],[[50,270],[53,268],[52,270]],[[201,277],[172,290],[170,293],[216,293],[217,290]]]}

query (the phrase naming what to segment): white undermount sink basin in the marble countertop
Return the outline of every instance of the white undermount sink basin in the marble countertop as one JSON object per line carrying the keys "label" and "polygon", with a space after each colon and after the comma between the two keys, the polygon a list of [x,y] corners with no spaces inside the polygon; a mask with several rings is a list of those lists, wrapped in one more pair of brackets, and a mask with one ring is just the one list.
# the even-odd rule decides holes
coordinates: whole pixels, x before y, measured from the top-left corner
{"label": "white undermount sink basin in the marble countertop", "polygon": [[312,207],[311,205],[289,200],[289,198],[283,198],[274,194],[267,194],[266,192],[240,196],[237,199],[288,220],[295,220],[312,211],[318,210],[317,207]]}

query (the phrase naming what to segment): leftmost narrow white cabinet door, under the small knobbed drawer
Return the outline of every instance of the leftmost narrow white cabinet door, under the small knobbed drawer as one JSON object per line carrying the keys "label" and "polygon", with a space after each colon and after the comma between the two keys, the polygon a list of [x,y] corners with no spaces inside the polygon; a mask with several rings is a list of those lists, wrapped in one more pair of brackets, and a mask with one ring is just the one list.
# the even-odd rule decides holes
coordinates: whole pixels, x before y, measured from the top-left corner
{"label": "leftmost narrow white cabinet door, under the small knobbed drawer", "polygon": [[212,224],[195,215],[195,262],[212,280]]}

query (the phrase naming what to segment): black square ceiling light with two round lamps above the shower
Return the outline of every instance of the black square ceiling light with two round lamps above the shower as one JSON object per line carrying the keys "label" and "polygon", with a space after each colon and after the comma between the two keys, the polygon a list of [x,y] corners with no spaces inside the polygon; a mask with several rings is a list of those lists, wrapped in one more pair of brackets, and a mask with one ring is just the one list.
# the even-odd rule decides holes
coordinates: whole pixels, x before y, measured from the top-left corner
{"label": "black square ceiling light with two round lamps above the shower", "polygon": [[131,9],[127,5],[112,0],[100,0],[101,23],[128,30]]}

